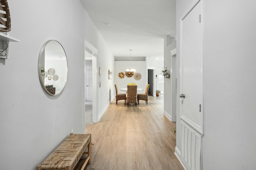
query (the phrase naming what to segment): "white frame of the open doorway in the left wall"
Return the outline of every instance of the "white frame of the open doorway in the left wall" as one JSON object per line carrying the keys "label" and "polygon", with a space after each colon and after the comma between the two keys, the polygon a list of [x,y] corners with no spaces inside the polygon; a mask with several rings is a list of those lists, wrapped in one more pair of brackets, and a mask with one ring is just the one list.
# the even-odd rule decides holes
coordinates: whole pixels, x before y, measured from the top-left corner
{"label": "white frame of the open doorway in the left wall", "polygon": [[[98,50],[86,39],[84,39],[84,51],[89,52],[92,54],[92,122],[97,123],[97,91],[98,91],[98,86],[97,86],[97,81],[98,81],[98,70],[97,70],[97,55],[98,55]],[[84,70],[85,70],[85,60],[88,59],[84,55]],[[85,74],[85,72],[84,72]],[[85,76],[84,76],[85,77]],[[84,80],[84,90],[86,89],[86,80]],[[84,92],[84,101],[86,100],[85,92]],[[85,116],[85,109],[84,109],[84,116]],[[85,120],[84,120],[84,126],[85,126]]]}

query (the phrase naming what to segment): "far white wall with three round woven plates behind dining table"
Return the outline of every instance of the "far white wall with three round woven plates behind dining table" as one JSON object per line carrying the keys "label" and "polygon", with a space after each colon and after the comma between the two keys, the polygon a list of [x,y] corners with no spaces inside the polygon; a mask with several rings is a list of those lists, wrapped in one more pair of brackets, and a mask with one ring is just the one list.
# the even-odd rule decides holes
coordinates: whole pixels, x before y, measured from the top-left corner
{"label": "far white wall with three round woven plates behind dining table", "polygon": [[145,93],[146,89],[146,83],[148,80],[147,75],[147,70],[146,70],[146,61],[132,61],[132,66],[136,68],[135,73],[140,73],[141,74],[141,79],[140,80],[135,80],[134,76],[132,77],[127,77],[124,76],[124,78],[119,78],[118,74],[120,72],[124,72],[128,66],[130,66],[130,61],[115,61],[115,68],[113,71],[113,79],[114,79],[114,84],[117,84],[118,87],[118,93],[126,93],[124,91],[121,91],[121,88],[127,88],[128,83],[136,83],[137,88],[143,88],[143,92],[138,92],[138,93]]}

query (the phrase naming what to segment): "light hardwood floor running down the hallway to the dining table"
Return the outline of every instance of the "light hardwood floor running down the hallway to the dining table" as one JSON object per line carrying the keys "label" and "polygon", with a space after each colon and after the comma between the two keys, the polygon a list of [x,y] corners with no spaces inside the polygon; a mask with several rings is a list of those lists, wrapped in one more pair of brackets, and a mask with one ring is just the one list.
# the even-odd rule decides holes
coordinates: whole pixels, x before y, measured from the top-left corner
{"label": "light hardwood floor running down the hallway to the dining table", "polygon": [[114,99],[100,121],[86,127],[94,145],[85,170],[183,170],[174,155],[176,123],[163,115],[163,99],[150,97],[137,107]]}

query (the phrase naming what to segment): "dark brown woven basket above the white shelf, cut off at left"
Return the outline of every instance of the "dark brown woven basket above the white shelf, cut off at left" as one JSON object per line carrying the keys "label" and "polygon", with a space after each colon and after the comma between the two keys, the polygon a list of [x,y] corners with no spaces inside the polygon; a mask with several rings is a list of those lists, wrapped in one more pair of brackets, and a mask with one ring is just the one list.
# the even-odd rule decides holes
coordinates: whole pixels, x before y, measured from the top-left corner
{"label": "dark brown woven basket above the white shelf, cut off at left", "polygon": [[[2,14],[4,12],[5,14]],[[0,32],[11,30],[11,16],[7,0],[0,0]]]}

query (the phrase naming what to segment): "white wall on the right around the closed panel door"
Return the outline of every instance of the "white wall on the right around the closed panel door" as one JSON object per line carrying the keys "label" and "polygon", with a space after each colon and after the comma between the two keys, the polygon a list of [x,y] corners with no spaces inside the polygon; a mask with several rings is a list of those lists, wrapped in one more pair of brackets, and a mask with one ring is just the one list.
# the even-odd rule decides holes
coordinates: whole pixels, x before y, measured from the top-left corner
{"label": "white wall on the right around the closed panel door", "polygon": [[[177,63],[180,57],[179,19],[191,3],[176,1]],[[215,0],[203,3],[202,166],[205,170],[255,169],[256,2]],[[177,109],[179,102],[177,100]],[[178,116],[176,125],[176,146],[180,149]]]}

